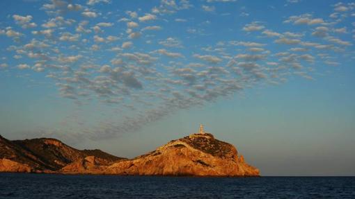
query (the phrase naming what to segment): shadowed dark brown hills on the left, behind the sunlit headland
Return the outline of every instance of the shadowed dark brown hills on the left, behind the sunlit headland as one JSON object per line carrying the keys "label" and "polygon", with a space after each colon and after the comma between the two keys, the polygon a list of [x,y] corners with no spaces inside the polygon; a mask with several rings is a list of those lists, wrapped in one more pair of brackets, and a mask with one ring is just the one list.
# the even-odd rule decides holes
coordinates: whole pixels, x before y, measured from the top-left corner
{"label": "shadowed dark brown hills on the left, behind the sunlit headland", "polygon": [[111,164],[116,157],[102,150],[78,150],[58,139],[39,138],[9,141],[0,136],[0,172],[52,173],[90,155]]}

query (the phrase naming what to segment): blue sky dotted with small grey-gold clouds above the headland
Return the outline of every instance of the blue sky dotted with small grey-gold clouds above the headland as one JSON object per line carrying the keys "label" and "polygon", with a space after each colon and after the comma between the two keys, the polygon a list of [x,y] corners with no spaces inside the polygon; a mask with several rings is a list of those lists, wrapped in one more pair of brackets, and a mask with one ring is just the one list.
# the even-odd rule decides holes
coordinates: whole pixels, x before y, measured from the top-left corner
{"label": "blue sky dotted with small grey-gold clouds above the headland", "polygon": [[0,1],[0,134],[135,157],[199,124],[261,175],[355,175],[352,1]]}

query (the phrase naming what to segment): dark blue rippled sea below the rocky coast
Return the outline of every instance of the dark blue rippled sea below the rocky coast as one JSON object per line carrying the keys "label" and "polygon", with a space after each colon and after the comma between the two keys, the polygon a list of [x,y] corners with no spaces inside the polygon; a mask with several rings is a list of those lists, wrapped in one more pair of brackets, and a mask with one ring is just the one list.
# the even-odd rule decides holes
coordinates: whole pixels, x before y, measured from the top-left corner
{"label": "dark blue rippled sea below the rocky coast", "polygon": [[0,198],[355,198],[355,178],[0,173]]}

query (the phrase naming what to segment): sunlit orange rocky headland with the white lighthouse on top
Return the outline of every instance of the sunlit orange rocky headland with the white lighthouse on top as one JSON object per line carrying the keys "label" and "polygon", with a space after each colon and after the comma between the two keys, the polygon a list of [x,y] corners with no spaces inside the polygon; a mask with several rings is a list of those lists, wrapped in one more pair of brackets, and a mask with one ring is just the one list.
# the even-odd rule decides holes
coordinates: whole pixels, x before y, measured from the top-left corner
{"label": "sunlit orange rocky headland with the white lighthouse on top", "polygon": [[231,144],[213,135],[190,135],[146,155],[118,162],[104,173],[120,175],[258,176]]}

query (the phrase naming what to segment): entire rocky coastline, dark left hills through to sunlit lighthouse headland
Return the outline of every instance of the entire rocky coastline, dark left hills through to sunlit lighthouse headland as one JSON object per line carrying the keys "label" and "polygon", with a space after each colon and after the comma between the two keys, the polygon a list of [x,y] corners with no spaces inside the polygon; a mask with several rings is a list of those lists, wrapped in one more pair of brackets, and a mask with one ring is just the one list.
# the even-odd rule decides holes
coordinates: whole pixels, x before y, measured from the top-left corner
{"label": "entire rocky coastline, dark left hills through to sunlit lighthouse headland", "polygon": [[0,172],[115,175],[258,176],[237,149],[212,134],[192,134],[134,159],[78,150],[57,139],[8,141],[0,137]]}

